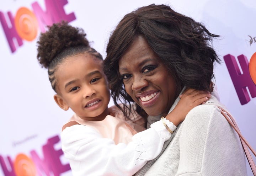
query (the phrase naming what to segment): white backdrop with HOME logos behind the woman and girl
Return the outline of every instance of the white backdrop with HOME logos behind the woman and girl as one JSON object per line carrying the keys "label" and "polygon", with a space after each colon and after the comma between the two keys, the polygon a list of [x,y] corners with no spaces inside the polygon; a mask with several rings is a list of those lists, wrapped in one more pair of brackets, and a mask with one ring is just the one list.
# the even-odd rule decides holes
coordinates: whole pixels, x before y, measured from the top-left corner
{"label": "white backdrop with HOME logos behind the woman and girl", "polygon": [[[33,14],[32,4],[35,2],[46,11],[49,10],[46,3],[57,1],[62,4],[66,15],[74,13],[75,19],[70,24],[83,28],[92,47],[104,58],[108,37],[118,21],[137,7],[152,3],[169,4],[174,10],[204,23],[210,32],[219,34],[221,37],[214,42],[214,47],[223,60],[222,65],[216,65],[215,69],[221,102],[228,107],[241,132],[256,149],[256,98],[245,89],[249,99],[241,105],[223,59],[224,55],[231,54],[238,63],[237,57],[244,54],[250,62],[256,52],[255,0],[1,0],[0,176],[20,176],[25,170],[37,172],[39,176],[71,176],[68,161],[60,150],[59,134],[73,112],[65,112],[55,104],[47,70],[38,64],[36,41],[41,30],[38,28],[31,41],[23,39],[21,46],[14,39],[16,50],[12,52],[2,24],[5,19],[12,28],[7,12],[15,18],[21,7]],[[250,170],[248,175],[252,175]]]}

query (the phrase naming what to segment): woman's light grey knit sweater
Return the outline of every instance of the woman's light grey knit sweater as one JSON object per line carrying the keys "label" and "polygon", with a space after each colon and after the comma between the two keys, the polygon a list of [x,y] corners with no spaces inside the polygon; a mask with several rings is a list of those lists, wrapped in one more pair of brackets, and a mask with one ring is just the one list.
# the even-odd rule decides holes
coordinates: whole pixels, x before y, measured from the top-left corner
{"label": "woman's light grey knit sweater", "polygon": [[187,114],[157,160],[148,161],[136,176],[246,176],[240,139],[217,106],[225,109],[214,90],[205,105]]}

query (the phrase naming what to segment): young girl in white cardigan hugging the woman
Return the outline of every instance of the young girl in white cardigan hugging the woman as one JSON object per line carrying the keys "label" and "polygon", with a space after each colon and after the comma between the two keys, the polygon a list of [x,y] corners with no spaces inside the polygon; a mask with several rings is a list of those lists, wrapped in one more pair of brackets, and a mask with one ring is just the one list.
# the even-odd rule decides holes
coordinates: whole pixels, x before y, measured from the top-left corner
{"label": "young girl in white cardigan hugging the woman", "polygon": [[[48,68],[57,93],[55,102],[75,113],[63,126],[62,149],[74,176],[131,176],[158,156],[187,112],[208,100],[210,94],[187,90],[174,111],[144,130],[145,126],[137,123],[143,125],[144,121],[134,110],[125,121],[115,106],[108,108],[110,90],[103,59],[85,36],[82,29],[62,22],[48,26],[38,41],[37,58]],[[154,96],[140,98],[146,102]]]}

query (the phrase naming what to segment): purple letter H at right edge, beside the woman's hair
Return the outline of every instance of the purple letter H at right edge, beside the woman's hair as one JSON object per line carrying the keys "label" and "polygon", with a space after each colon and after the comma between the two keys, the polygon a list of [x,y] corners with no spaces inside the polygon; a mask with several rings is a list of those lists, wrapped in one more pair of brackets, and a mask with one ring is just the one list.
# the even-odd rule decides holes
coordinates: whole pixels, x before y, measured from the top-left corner
{"label": "purple letter H at right edge, beside the woman's hair", "polygon": [[250,101],[250,96],[248,91],[246,90],[246,87],[248,87],[251,97],[254,98],[256,97],[256,85],[254,84],[250,76],[247,57],[243,54],[238,56],[238,61],[240,63],[243,74],[241,74],[241,71],[233,55],[225,55],[224,61],[228,68],[231,80],[234,84],[236,94],[239,97],[241,105],[248,103]]}

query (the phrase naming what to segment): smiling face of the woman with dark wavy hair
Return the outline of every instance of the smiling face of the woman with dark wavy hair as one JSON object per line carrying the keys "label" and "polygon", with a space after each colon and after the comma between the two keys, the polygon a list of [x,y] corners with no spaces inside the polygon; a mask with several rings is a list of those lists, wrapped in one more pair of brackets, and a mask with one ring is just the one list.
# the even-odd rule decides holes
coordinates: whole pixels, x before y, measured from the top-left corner
{"label": "smiling face of the woman with dark wavy hair", "polygon": [[177,98],[174,78],[139,36],[119,60],[126,92],[150,116],[166,115]]}

